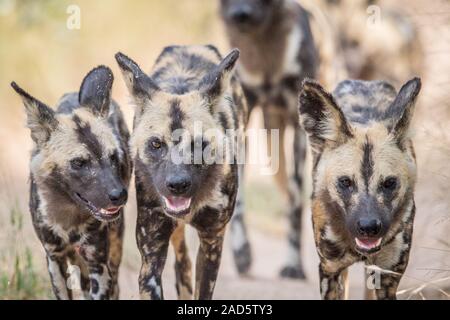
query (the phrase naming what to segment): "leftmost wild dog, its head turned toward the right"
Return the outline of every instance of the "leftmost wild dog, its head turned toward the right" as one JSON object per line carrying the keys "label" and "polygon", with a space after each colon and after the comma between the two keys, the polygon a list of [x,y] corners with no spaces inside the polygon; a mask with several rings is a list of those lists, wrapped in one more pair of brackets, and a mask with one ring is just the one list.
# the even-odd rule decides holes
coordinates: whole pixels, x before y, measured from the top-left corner
{"label": "leftmost wild dog, its head turned toward the right", "polygon": [[[118,298],[132,168],[129,133],[111,100],[112,83],[109,68],[93,69],[79,93],[61,98],[57,111],[11,84],[23,100],[34,141],[30,211],[57,299]],[[79,283],[76,271],[69,277],[71,265],[80,270]]]}

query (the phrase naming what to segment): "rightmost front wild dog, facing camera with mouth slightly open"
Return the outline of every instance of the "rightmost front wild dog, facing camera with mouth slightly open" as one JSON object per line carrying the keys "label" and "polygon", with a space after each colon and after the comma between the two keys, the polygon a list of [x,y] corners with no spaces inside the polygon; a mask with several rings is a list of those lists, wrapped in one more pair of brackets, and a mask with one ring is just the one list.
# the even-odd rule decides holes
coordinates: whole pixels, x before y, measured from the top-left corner
{"label": "rightmost front wild dog, facing camera with mouth slightly open", "polygon": [[372,275],[379,279],[378,299],[396,298],[413,232],[416,161],[409,127],[420,87],[414,78],[397,94],[384,81],[346,80],[331,95],[303,82],[300,121],[313,152],[312,214],[324,299],[344,297],[347,267],[357,261],[383,269]]}

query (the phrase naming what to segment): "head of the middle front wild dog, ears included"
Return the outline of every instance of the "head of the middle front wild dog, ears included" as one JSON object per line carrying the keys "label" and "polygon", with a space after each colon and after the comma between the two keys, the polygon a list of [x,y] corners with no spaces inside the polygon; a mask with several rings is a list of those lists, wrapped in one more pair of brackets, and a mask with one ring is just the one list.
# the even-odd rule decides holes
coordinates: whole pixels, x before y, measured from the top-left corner
{"label": "head of the middle front wild dog, ears included", "polygon": [[220,152],[224,128],[216,110],[219,105],[232,108],[230,81],[239,51],[215,64],[199,57],[220,61],[217,51],[203,49],[191,55],[184,47],[167,48],[157,61],[168,74],[162,80],[159,72],[150,77],[127,56],[116,55],[136,105],[130,139],[136,181],[144,180],[153,200],[174,217],[194,212],[213,197],[228,167],[227,160],[216,158],[226,157]]}

